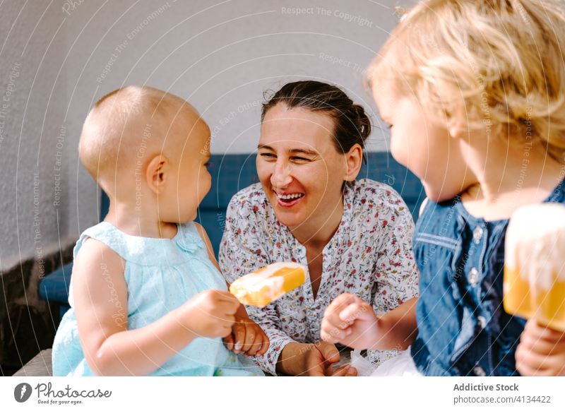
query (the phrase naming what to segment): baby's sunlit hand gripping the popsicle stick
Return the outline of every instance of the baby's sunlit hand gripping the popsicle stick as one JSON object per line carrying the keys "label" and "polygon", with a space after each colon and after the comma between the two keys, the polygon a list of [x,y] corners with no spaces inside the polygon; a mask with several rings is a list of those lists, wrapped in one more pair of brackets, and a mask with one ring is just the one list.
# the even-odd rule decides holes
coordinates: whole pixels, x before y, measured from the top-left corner
{"label": "baby's sunlit hand gripping the popsicle stick", "polygon": [[232,332],[239,301],[227,291],[206,290],[189,299],[180,321],[198,337],[226,337]]}

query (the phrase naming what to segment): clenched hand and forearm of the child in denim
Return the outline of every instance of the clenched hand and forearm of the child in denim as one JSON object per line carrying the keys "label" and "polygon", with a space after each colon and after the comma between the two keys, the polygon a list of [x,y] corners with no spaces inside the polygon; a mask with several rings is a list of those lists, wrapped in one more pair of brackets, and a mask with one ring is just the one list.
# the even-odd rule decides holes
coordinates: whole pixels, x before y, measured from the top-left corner
{"label": "clenched hand and forearm of the child in denim", "polygon": [[326,309],[321,338],[359,350],[406,350],[416,337],[416,302],[411,298],[378,315],[359,297],[341,294]]}

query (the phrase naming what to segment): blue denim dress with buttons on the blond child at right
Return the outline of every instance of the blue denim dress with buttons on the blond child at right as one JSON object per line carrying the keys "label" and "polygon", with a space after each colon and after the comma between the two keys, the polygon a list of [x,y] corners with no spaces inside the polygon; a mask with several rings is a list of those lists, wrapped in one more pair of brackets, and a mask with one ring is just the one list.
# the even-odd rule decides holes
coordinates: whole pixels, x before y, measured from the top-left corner
{"label": "blue denim dress with buttons on the blond child at right", "polygon": [[[545,202],[565,203],[564,181]],[[422,374],[518,375],[514,355],[525,320],[502,305],[508,222],[473,217],[459,197],[425,206],[414,234],[420,298],[410,348]]]}

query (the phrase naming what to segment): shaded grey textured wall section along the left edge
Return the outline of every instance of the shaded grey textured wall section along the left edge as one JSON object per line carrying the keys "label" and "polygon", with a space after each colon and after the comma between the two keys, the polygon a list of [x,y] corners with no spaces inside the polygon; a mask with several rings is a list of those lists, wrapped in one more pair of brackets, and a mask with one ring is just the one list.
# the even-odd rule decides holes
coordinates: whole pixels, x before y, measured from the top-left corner
{"label": "shaded grey textured wall section along the left edge", "polygon": [[35,258],[42,274],[42,257],[72,241],[64,14],[57,1],[7,1],[0,16],[0,270]]}

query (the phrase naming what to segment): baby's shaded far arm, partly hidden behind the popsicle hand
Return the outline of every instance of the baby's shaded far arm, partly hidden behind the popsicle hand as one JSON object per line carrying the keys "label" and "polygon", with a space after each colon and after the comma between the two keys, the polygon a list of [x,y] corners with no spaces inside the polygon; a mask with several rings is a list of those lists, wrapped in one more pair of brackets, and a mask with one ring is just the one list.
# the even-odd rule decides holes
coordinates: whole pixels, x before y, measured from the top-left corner
{"label": "baby's shaded far arm, partly hidden behind the popsicle hand", "polygon": [[[206,250],[208,251],[208,258],[210,261],[218,268],[220,273],[220,266],[216,257],[214,255],[214,249],[210,238],[206,233],[204,227],[202,227],[197,222],[194,223],[198,229],[198,233],[202,238],[204,244],[206,244]],[[226,285],[230,288],[230,284],[226,281]],[[236,354],[239,352],[244,352],[246,355],[264,355],[269,347],[269,339],[263,328],[258,326],[258,324],[249,318],[249,314],[243,305],[239,306],[237,313],[235,313],[236,322],[234,323],[232,334],[224,338],[224,342],[228,350],[233,350]]]}

